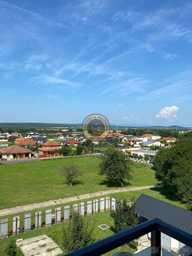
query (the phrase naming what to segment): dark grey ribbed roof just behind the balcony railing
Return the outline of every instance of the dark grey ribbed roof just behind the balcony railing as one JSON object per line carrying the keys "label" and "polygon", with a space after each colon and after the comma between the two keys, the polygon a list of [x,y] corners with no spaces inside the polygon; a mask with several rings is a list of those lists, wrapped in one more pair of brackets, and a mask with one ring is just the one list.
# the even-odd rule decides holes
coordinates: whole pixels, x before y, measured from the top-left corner
{"label": "dark grey ribbed roof just behind the balcony railing", "polygon": [[136,202],[136,213],[148,220],[159,218],[192,235],[192,212],[181,207],[141,194]]}

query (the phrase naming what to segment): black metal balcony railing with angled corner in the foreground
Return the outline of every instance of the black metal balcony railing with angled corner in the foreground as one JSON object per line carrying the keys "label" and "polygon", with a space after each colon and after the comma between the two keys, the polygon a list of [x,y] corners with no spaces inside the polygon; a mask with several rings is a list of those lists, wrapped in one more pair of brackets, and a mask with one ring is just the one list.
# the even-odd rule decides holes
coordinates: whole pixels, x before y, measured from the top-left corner
{"label": "black metal balcony railing with angled corner in the foreground", "polygon": [[68,256],[78,256],[78,255],[101,255],[106,252],[110,252],[115,248],[127,244],[130,241],[144,236],[145,234],[151,232],[151,255],[159,256],[161,253],[161,235],[163,232],[167,236],[173,237],[180,241],[184,245],[192,247],[192,236],[183,230],[179,230],[174,226],[162,222],[159,219],[153,219],[141,223],[129,230],[124,230],[114,236],[102,239],[92,245],[85,246],[75,252],[70,252]]}

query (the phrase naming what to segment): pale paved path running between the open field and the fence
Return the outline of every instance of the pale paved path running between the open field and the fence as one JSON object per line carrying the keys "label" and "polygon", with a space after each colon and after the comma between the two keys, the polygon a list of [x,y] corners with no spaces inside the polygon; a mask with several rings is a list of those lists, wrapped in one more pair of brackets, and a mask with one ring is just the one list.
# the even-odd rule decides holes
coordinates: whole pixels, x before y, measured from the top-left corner
{"label": "pale paved path running between the open field and the fence", "polygon": [[59,204],[65,204],[70,203],[73,201],[78,200],[86,200],[94,197],[100,197],[111,193],[118,193],[118,192],[129,192],[129,191],[137,191],[137,190],[143,190],[143,189],[149,189],[154,187],[160,187],[160,185],[145,185],[145,186],[136,186],[136,187],[129,187],[129,188],[121,188],[121,189],[113,189],[113,190],[107,190],[107,191],[101,191],[101,192],[92,192],[87,193],[79,196],[74,196],[70,198],[60,199],[60,200],[49,200],[44,201],[41,203],[34,203],[26,206],[21,207],[11,207],[7,209],[0,210],[0,217],[5,215],[14,215],[22,212],[32,211],[34,209],[42,208],[42,207],[53,207],[55,205]]}

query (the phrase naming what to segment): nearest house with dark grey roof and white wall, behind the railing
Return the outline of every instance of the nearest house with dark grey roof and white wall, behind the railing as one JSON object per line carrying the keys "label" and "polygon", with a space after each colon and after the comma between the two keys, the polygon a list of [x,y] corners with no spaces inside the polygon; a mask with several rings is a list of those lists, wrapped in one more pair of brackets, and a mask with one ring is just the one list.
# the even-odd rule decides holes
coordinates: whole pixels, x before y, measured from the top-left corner
{"label": "nearest house with dark grey roof and white wall, behind the railing", "polygon": [[[192,212],[186,209],[141,194],[136,202],[136,213],[140,215],[141,222],[159,218],[161,221],[192,236]],[[149,237],[151,237],[151,233],[149,233]],[[172,252],[174,255],[188,256],[192,253],[191,247],[164,233],[161,233],[161,245],[163,249]]]}

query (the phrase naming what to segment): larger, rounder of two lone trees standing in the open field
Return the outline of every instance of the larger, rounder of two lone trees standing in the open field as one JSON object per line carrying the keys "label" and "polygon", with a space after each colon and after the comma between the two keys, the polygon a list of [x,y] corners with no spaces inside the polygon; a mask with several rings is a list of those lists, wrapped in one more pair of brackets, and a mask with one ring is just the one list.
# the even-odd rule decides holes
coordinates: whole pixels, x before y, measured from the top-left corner
{"label": "larger, rounder of two lone trees standing in the open field", "polygon": [[122,151],[108,148],[101,155],[100,175],[106,175],[108,181],[119,183],[123,186],[125,179],[131,179],[131,161]]}

